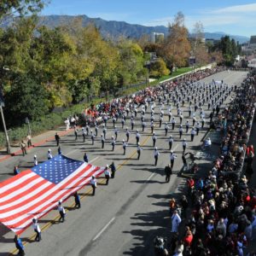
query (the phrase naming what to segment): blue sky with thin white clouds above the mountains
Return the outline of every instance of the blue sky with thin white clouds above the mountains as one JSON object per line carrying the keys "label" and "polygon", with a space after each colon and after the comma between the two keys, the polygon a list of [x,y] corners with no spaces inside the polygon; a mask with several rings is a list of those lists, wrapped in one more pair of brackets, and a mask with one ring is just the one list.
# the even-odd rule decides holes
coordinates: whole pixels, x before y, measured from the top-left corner
{"label": "blue sky with thin white clouds above the mountains", "polygon": [[247,37],[256,34],[256,1],[250,0],[51,0],[43,15],[88,15],[166,26],[178,11],[185,15],[189,30],[201,21],[206,32]]}

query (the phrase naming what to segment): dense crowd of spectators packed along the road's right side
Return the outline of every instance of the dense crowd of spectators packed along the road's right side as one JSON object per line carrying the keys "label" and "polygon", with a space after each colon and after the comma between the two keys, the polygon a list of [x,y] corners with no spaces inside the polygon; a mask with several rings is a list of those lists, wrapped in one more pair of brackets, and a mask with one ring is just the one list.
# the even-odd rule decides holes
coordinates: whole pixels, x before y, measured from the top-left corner
{"label": "dense crowd of spectators packed along the road's right side", "polygon": [[[254,116],[255,88],[256,76],[248,76],[236,88],[230,111],[225,109],[223,113],[233,112],[234,119],[226,127],[212,170],[207,177],[189,178],[188,199],[184,196],[177,202],[172,199],[172,222],[185,217],[188,201],[191,214],[183,218],[184,235],[177,233],[177,225],[182,222],[172,223],[175,229],[169,255],[256,255],[245,254],[256,233],[256,191],[249,185],[254,151],[253,146],[246,146]],[[242,173],[245,158],[247,176]]]}

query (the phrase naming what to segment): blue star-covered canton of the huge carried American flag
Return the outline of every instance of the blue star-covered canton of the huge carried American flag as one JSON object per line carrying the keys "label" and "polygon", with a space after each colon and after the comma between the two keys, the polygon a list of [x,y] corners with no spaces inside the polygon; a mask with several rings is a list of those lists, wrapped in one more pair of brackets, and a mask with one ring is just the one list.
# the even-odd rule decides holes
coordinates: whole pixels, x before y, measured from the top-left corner
{"label": "blue star-covered canton of the huge carried American flag", "polygon": [[39,176],[49,180],[49,182],[57,184],[75,172],[83,163],[59,154],[38,166],[34,166],[32,172],[36,172]]}

